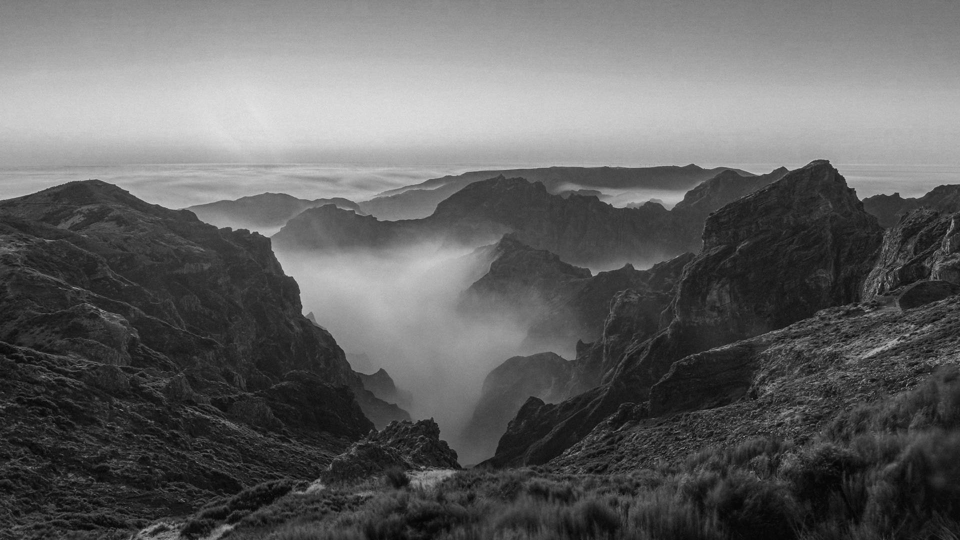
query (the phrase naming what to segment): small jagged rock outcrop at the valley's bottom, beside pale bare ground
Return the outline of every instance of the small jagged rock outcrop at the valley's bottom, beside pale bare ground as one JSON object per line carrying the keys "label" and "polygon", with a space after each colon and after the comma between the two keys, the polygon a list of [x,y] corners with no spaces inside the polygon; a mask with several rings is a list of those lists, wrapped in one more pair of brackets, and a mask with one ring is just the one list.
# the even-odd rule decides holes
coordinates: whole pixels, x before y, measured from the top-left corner
{"label": "small jagged rock outcrop at the valley's bottom, beside pale bare ground", "polygon": [[391,422],[354,443],[330,462],[321,479],[338,481],[380,474],[390,467],[460,469],[457,453],[440,439],[433,419]]}

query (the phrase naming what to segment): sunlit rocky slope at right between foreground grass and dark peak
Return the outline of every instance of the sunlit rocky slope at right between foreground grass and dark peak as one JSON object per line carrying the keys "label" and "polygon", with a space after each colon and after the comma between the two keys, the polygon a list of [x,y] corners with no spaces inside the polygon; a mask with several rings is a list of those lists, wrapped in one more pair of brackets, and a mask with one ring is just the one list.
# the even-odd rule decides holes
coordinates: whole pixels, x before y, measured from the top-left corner
{"label": "sunlit rocky slope at right between foreground grass and dark peak", "polygon": [[[654,385],[648,403],[621,405],[547,466],[616,474],[756,437],[803,444],[839,413],[956,365],[958,309],[956,294],[908,309],[879,301],[831,307],[785,329],[687,356]],[[924,420],[918,415],[913,422]]]}

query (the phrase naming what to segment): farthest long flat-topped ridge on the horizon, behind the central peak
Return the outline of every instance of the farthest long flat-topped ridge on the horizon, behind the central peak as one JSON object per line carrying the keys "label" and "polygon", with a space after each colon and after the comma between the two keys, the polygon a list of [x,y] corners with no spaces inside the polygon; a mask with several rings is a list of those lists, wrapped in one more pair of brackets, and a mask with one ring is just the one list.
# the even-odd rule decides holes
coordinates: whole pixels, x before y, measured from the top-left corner
{"label": "farthest long flat-topped ridge on the horizon, behind the central peak", "polygon": [[[731,170],[744,177],[753,176],[747,171],[729,167],[705,169],[694,164],[657,167],[540,167],[471,171],[461,175],[434,178],[420,184],[404,185],[380,193],[360,207],[378,219],[396,221],[419,219],[433,213],[437,205],[463,189],[468,184],[497,176],[519,177],[530,183],[539,182],[552,194],[568,196],[578,190],[608,189],[689,189],[718,173]],[[589,194],[589,191],[588,191]],[[593,193],[596,194],[596,193]]]}

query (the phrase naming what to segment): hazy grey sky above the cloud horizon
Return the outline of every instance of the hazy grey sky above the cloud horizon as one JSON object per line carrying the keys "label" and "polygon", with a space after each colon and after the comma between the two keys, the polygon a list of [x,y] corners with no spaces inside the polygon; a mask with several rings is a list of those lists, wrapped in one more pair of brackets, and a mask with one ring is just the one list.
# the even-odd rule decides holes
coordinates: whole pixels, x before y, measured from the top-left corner
{"label": "hazy grey sky above the cloud horizon", "polygon": [[960,2],[0,0],[0,164],[960,163]]}

